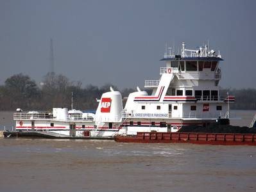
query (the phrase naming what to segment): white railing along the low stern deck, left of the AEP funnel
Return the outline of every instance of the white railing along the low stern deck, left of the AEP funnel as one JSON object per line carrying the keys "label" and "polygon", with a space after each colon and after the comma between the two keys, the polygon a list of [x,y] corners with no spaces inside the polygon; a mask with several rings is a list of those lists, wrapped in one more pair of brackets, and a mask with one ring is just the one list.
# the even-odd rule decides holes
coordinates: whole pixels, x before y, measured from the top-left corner
{"label": "white railing along the low stern deck, left of the AEP funnel", "polygon": [[[35,113],[35,114],[29,114],[29,113],[13,113],[13,119],[14,120],[21,120],[21,119],[55,119],[57,118],[53,116],[52,114],[49,113]],[[87,116],[83,117],[82,115],[67,115],[64,116],[63,119],[67,120],[89,120],[92,121],[94,120],[93,117]]]}

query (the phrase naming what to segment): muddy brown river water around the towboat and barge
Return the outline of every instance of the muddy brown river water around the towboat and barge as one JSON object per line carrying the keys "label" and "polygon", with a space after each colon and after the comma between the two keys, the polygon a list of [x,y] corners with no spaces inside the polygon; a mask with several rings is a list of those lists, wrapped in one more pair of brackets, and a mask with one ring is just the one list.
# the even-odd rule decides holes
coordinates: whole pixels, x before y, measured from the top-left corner
{"label": "muddy brown river water around the towboat and barge", "polygon": [[[232,112],[248,126],[256,111]],[[0,139],[0,191],[256,191],[255,181],[253,146]]]}

